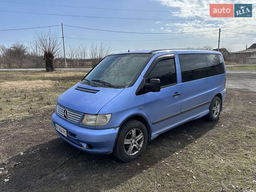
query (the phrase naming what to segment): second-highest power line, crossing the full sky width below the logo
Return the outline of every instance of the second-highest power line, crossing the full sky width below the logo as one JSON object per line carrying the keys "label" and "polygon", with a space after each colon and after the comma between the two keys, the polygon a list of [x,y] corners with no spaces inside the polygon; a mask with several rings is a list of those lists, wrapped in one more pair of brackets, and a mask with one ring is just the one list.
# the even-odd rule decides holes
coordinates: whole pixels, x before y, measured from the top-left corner
{"label": "second-highest power line, crossing the full sky width below the logo", "polygon": [[[67,17],[84,17],[84,18],[98,18],[98,19],[122,19],[122,20],[162,20],[162,21],[187,21],[187,20],[202,20],[202,21],[223,21],[223,20],[211,20],[211,19],[168,19],[168,18],[126,18],[126,17],[100,17],[100,16],[84,16],[84,15],[66,15],[66,14],[54,14],[54,13],[37,13],[37,12],[21,12],[21,11],[8,11],[0,10],[0,12],[14,12],[14,13],[25,13],[25,14],[37,14],[37,15],[57,15],[57,16],[67,16]],[[256,18],[252,18],[256,19]],[[252,20],[250,19],[250,20]],[[228,20],[228,19],[226,19]],[[243,20],[244,21],[244,20]]]}

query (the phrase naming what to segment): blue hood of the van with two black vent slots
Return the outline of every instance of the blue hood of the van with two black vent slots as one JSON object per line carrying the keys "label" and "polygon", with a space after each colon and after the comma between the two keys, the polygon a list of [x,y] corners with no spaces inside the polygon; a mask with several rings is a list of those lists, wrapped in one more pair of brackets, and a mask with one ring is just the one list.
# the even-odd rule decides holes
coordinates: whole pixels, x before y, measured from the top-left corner
{"label": "blue hood of the van with two black vent slots", "polygon": [[78,112],[97,114],[104,105],[123,90],[124,88],[92,87],[77,83],[62,93],[57,103]]}

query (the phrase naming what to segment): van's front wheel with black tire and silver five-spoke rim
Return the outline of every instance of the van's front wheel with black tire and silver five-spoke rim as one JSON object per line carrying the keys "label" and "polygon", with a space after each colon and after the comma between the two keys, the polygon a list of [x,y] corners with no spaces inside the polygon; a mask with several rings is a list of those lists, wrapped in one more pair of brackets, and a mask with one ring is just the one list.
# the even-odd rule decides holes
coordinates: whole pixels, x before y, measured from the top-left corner
{"label": "van's front wheel with black tire and silver five-spoke rim", "polygon": [[124,162],[133,161],[142,155],[147,142],[145,125],[137,120],[128,120],[120,127],[114,155]]}

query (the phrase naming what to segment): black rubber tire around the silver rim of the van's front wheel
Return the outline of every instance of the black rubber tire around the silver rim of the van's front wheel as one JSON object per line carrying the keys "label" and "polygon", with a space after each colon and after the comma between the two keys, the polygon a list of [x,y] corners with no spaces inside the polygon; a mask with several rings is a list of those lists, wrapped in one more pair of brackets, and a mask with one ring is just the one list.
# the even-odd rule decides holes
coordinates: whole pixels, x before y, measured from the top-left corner
{"label": "black rubber tire around the silver rim of the van's front wheel", "polygon": [[[128,147],[130,147],[130,144],[127,144],[124,147],[124,139],[125,139],[125,137],[127,137],[128,133],[132,134],[130,132],[133,129],[137,130],[138,133],[141,133],[141,132],[143,133],[143,144],[141,144],[142,146],[136,154],[127,155],[127,153],[125,152],[125,148],[127,145],[128,145]],[[116,140],[116,146],[115,146],[113,154],[116,156],[116,158],[120,159],[121,161],[124,161],[124,162],[133,161],[142,155],[144,149],[146,148],[147,142],[148,142],[148,131],[147,131],[147,128],[145,127],[145,125],[137,120],[128,120],[120,127],[120,131],[118,133],[118,137]],[[131,145],[136,145],[136,143],[135,144],[133,143]],[[137,150],[137,148],[134,147],[134,150]]]}

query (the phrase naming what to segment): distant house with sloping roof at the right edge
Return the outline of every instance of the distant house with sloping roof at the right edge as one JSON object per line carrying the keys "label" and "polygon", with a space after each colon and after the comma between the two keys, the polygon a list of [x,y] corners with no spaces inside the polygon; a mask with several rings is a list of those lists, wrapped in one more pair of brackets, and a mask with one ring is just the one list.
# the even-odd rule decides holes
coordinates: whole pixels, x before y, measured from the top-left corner
{"label": "distant house with sloping roof at the right edge", "polygon": [[256,64],[256,43],[252,44],[249,48],[230,52],[230,56],[226,61],[227,64]]}

